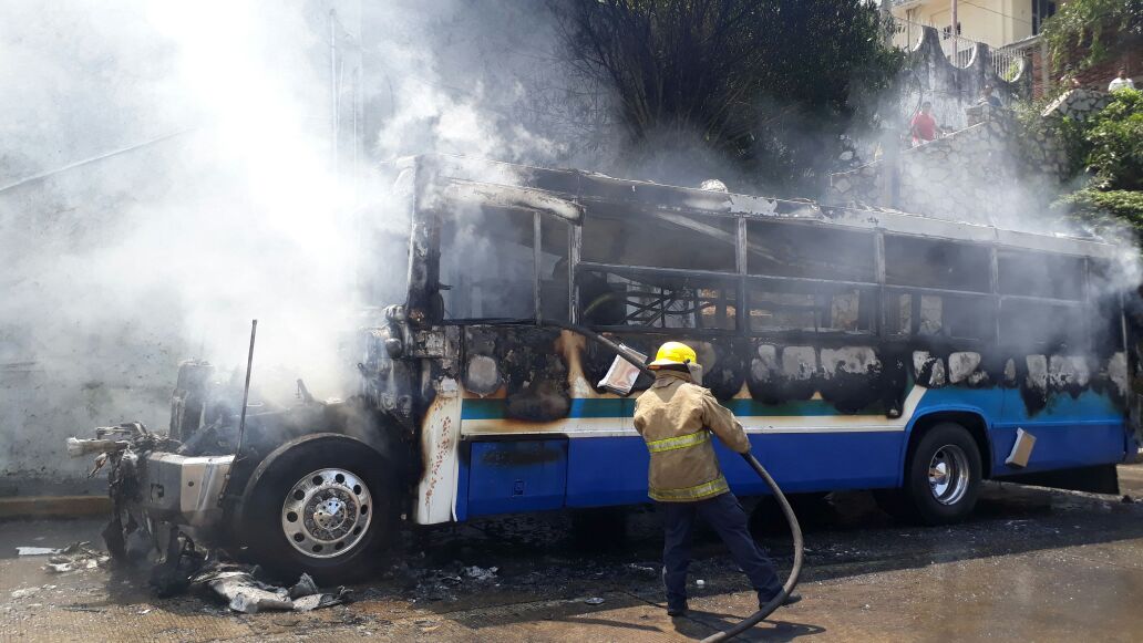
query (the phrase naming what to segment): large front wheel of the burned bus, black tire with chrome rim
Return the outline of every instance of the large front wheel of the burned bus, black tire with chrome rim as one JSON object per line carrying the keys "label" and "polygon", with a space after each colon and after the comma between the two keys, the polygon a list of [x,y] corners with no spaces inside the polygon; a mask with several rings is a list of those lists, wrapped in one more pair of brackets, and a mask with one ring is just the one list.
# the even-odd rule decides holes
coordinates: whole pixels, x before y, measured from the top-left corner
{"label": "large front wheel of the burned bus, black tire with chrome rim", "polygon": [[318,433],[271,452],[238,505],[237,536],[249,558],[283,580],[360,580],[395,530],[395,489],[385,458],[360,440]]}

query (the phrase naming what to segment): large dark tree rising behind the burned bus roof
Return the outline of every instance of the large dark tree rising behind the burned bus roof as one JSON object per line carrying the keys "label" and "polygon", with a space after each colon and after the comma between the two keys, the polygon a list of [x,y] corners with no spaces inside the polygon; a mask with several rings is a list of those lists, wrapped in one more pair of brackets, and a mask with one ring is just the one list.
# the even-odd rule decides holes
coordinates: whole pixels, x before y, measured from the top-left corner
{"label": "large dark tree rising behind the burned bus roof", "polygon": [[903,64],[864,0],[552,6],[573,63],[618,99],[628,160],[660,175],[670,170],[655,158],[676,154],[705,161],[694,172],[729,166],[742,180],[805,194],[837,159],[841,134],[876,123],[876,99]]}

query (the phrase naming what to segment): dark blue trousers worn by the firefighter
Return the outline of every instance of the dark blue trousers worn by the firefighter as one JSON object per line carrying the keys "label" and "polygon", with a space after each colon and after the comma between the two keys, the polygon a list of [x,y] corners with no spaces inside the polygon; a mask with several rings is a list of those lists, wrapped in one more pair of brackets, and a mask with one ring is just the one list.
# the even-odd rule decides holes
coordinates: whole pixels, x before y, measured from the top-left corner
{"label": "dark blue trousers worn by the firefighter", "polygon": [[746,528],[746,512],[734,493],[727,491],[697,503],[660,503],[663,512],[663,585],[666,604],[681,608],[687,603],[687,568],[690,566],[690,535],[695,516],[714,528],[730,555],[746,572],[762,601],[782,590],[774,562],[762,553]]}

